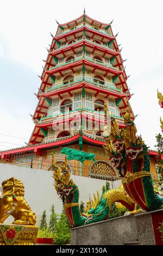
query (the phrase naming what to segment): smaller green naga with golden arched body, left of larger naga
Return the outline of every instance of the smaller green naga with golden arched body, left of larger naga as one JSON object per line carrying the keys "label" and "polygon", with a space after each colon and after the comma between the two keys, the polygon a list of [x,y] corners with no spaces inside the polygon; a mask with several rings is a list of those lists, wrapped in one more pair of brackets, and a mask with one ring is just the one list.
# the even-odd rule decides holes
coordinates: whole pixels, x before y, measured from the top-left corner
{"label": "smaller green naga with golden arched body, left of larger naga", "polygon": [[115,202],[122,203],[129,211],[135,209],[134,200],[131,199],[125,191],[112,189],[104,192],[100,199],[99,193],[97,193],[97,198],[94,194],[92,203],[87,202],[87,211],[80,214],[79,190],[74,181],[70,179],[71,174],[67,169],[67,160],[65,159],[64,167],[62,167],[61,170],[60,167],[55,164],[53,156],[53,163],[50,170],[53,172],[55,190],[62,199],[66,216],[73,227],[105,220],[106,217],[108,217],[109,209]]}

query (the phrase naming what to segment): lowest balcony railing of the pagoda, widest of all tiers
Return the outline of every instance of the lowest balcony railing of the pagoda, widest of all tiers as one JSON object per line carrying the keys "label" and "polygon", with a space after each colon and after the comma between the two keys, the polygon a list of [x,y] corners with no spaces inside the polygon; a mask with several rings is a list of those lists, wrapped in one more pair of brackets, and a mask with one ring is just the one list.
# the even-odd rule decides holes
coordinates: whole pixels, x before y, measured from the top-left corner
{"label": "lowest balcony railing of the pagoda, widest of all tiers", "polygon": [[[87,108],[79,108],[77,110],[72,110],[70,112],[66,112],[66,113],[60,113],[60,114],[56,114],[55,116],[51,115],[48,117],[42,117],[39,121],[39,123],[36,124],[36,126],[48,126],[49,124],[52,123],[60,123],[60,122],[64,122],[64,120],[72,120],[75,117],[83,117],[83,118],[92,118],[94,120],[105,120],[105,116],[104,116],[104,112],[99,112],[99,111],[95,111],[95,110],[91,110],[91,109],[87,109]],[[120,124],[124,124],[124,118],[122,117],[118,117],[116,115],[113,115],[113,117],[117,120],[118,123]]]}

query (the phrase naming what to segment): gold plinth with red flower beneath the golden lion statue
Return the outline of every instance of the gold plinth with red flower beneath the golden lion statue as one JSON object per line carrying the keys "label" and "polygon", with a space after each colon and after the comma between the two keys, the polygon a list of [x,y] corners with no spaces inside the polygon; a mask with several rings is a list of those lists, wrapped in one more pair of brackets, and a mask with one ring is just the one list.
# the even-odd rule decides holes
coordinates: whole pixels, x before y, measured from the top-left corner
{"label": "gold plinth with red flower beneath the golden lion statue", "polygon": [[0,245],[35,245],[38,230],[34,225],[0,224]]}

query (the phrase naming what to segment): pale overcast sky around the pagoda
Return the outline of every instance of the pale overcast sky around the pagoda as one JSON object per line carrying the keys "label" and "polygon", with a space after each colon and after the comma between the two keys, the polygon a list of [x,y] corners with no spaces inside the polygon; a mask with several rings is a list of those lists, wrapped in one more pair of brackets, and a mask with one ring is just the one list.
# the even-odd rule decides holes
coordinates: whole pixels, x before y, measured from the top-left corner
{"label": "pale overcast sky around the pagoda", "polygon": [[[28,142],[33,131],[33,114],[41,80],[42,59],[57,23],[65,23],[86,14],[109,23],[122,44],[122,58],[128,59],[128,87],[137,134],[154,149],[155,135],[161,132],[159,119],[163,112],[156,90],[163,94],[163,1],[36,1],[0,0],[0,150],[20,147]],[[12,138],[9,136],[22,138]],[[12,144],[11,144],[12,143]],[[17,144],[17,145],[15,145]]]}

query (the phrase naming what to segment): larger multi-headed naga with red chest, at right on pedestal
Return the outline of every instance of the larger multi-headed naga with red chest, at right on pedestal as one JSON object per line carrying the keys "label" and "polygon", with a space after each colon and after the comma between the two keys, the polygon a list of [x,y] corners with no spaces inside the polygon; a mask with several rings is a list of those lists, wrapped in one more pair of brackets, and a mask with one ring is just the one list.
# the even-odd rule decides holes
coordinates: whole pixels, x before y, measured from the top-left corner
{"label": "larger multi-headed naga with red chest, at right on pedestal", "polygon": [[150,172],[148,147],[141,136],[136,136],[136,126],[130,118],[127,105],[124,129],[120,130],[115,119],[111,120],[110,136],[105,137],[104,148],[109,161],[118,169],[124,190],[142,210],[160,209],[163,198],[154,192]]}

